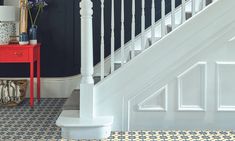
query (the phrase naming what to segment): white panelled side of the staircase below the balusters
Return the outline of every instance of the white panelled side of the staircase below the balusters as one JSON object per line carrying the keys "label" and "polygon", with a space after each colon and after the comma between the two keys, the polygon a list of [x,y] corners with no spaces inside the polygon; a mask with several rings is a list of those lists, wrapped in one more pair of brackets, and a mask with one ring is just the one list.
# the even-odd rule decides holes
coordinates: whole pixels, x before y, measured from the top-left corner
{"label": "white panelled side of the staircase below the balusters", "polygon": [[[216,1],[95,85],[95,115],[113,115],[112,130],[234,130],[235,67],[228,63],[235,62],[235,43],[229,42],[235,35],[234,6],[235,1]],[[181,75],[180,102],[192,109],[178,110]],[[165,104],[159,100],[164,94],[167,109],[156,110]]]}

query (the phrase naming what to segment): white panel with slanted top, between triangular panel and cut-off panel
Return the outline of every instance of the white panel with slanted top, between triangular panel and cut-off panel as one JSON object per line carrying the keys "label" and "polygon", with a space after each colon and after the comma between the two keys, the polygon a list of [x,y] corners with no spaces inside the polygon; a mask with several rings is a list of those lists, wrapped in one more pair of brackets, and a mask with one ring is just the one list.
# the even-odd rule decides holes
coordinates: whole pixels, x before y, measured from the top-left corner
{"label": "white panel with slanted top, between triangular panel and cut-off panel", "polygon": [[198,62],[178,76],[178,110],[206,110],[207,63]]}

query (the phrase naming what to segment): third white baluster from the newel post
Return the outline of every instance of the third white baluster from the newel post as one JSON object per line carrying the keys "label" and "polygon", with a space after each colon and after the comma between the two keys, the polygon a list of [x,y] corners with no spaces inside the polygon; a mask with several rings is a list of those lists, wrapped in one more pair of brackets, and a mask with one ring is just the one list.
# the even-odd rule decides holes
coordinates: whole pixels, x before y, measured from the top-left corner
{"label": "third white baluster from the newel post", "polygon": [[121,62],[124,64],[125,54],[124,54],[124,43],[125,43],[125,29],[124,29],[124,0],[121,1]]}

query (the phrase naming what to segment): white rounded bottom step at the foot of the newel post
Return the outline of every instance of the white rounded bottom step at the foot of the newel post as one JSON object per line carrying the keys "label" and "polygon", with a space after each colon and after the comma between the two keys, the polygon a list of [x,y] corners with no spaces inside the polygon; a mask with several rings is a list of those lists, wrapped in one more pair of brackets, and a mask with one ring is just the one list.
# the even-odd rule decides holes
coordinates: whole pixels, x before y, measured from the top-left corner
{"label": "white rounded bottom step at the foot of the newel post", "polygon": [[[105,139],[110,136],[113,117],[78,118],[79,110],[63,110],[56,121],[66,140]],[[92,133],[92,134],[91,134]]]}

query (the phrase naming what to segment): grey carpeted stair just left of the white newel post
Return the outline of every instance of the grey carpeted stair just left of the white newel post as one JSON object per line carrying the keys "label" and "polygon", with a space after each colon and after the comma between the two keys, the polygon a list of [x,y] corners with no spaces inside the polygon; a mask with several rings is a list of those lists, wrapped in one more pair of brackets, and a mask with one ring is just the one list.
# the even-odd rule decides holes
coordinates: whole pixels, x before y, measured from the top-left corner
{"label": "grey carpeted stair just left of the white newel post", "polygon": [[80,90],[73,90],[71,96],[66,100],[63,110],[80,110]]}

